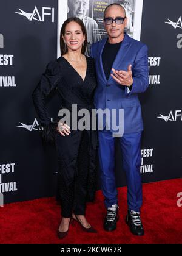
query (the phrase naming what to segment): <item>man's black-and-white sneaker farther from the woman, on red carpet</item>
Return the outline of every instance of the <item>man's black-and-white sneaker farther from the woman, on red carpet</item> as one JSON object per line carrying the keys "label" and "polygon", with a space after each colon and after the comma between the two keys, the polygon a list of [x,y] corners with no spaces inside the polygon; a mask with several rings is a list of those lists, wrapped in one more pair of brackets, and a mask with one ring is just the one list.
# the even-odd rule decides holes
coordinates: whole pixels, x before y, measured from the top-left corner
{"label": "man's black-and-white sneaker farther from the woman, on red carpet", "polygon": [[128,210],[126,224],[130,227],[130,231],[133,233],[133,235],[144,235],[144,228],[141,223],[140,212]]}

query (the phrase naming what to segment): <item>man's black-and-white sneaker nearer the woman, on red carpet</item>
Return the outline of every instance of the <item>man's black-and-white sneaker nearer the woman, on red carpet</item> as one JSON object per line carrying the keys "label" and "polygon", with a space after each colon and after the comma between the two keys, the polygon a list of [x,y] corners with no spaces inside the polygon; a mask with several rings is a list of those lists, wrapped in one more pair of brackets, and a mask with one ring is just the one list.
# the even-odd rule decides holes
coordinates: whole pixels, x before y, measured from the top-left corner
{"label": "man's black-and-white sneaker nearer the woman, on red carpet", "polygon": [[107,214],[104,219],[104,229],[106,231],[113,231],[116,229],[116,223],[119,219],[118,208],[119,207],[116,204],[107,208]]}

